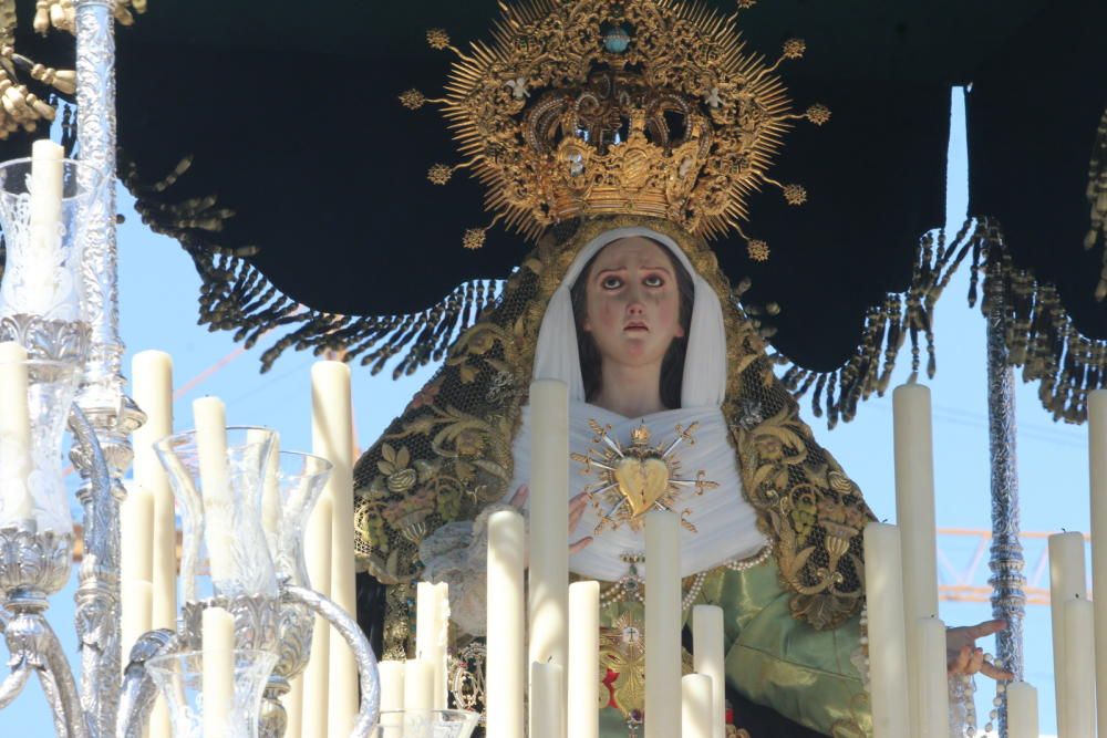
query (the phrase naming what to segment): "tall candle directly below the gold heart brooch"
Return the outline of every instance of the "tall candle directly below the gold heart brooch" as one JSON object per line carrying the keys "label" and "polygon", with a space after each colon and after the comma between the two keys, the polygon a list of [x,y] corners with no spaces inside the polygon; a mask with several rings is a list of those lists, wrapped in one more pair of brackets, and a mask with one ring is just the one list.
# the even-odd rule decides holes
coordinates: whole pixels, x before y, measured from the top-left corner
{"label": "tall candle directly below the gold heart brooch", "polygon": [[681,730],[673,697],[681,694],[680,519],[645,516],[645,738]]}

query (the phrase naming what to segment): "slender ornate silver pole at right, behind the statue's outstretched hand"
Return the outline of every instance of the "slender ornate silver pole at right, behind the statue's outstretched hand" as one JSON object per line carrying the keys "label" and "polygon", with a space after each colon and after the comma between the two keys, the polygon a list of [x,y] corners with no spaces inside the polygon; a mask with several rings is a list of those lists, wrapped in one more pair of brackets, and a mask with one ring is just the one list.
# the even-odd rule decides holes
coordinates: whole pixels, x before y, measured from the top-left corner
{"label": "slender ornate silver pole at right, behind the statue's outstretched hand", "polygon": [[[999,261],[999,260],[996,260]],[[1018,471],[1015,468],[1015,376],[1007,363],[1004,304],[1001,282],[994,276],[1000,264],[989,267],[987,304],[987,415],[992,459],[992,616],[1007,621],[996,634],[996,656],[1003,667],[1023,676],[1023,547],[1018,540]],[[1000,736],[1006,738],[1006,708],[1000,707]]]}

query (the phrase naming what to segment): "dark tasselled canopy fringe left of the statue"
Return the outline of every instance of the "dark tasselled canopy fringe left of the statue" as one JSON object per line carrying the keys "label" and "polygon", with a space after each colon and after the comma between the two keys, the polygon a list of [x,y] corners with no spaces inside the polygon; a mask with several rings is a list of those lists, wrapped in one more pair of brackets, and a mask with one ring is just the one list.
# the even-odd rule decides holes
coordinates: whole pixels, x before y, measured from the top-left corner
{"label": "dark tasselled canopy fringe left of the statue", "polygon": [[[190,157],[185,157],[153,186],[142,186],[133,164],[127,163],[122,167],[123,181],[136,197],[135,209],[143,222],[178,240],[192,257],[201,280],[200,325],[210,331],[234,331],[235,341],[247,349],[269,333],[283,331],[261,354],[262,373],[289,349],[310,349],[317,356],[360,357],[373,374],[396,358],[393,378],[412,374],[441,361],[454,339],[499,298],[499,281],[473,280],[426,310],[405,315],[341,315],[308,309],[287,298],[248,261],[258,252],[257,247],[208,245],[208,239],[235,217],[234,210],[218,206],[216,196],[167,199],[166,193],[187,176],[190,163]],[[198,237],[200,232],[204,238]]]}

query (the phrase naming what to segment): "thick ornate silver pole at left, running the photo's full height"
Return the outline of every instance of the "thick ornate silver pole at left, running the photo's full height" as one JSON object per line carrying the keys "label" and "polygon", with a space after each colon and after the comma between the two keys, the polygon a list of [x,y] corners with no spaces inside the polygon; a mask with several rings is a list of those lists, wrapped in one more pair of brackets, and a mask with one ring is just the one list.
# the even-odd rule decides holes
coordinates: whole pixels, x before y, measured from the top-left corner
{"label": "thick ornate silver pole at left, running the photo's full height", "polygon": [[[93,738],[115,732],[118,710],[120,501],[131,466],[130,435],[145,419],[123,391],[118,268],[115,241],[115,0],[76,0],[76,98],[79,157],[103,179],[97,197],[79,217],[83,227],[84,313],[92,330],[77,405],[95,430],[111,485],[93,484],[92,459],[77,447],[74,465],[84,480],[84,559],[76,593],[81,647],[81,705]],[[111,685],[111,688],[105,686]]]}

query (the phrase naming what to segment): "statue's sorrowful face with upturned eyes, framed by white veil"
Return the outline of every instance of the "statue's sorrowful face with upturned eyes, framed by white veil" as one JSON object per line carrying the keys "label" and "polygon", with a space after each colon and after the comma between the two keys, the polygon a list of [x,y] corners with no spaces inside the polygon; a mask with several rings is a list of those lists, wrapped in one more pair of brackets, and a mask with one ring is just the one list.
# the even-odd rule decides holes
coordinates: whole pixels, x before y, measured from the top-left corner
{"label": "statue's sorrowful face with upturned eyes, framed by white veil", "polygon": [[664,248],[644,238],[606,246],[586,284],[583,329],[604,362],[660,366],[680,324],[680,290]]}

